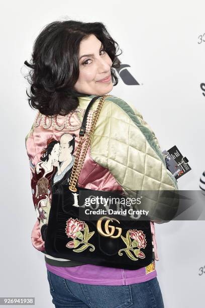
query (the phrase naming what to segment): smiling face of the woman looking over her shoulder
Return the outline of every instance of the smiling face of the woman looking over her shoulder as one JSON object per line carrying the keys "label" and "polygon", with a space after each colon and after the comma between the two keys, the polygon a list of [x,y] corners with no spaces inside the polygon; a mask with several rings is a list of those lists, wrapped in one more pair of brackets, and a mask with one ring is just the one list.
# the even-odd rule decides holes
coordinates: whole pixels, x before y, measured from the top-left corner
{"label": "smiling face of the woman looking over her shoulder", "polygon": [[110,81],[99,82],[111,75],[113,64],[103,47],[93,34],[80,42],[79,77],[74,90],[88,95],[105,95],[113,89],[111,78]]}

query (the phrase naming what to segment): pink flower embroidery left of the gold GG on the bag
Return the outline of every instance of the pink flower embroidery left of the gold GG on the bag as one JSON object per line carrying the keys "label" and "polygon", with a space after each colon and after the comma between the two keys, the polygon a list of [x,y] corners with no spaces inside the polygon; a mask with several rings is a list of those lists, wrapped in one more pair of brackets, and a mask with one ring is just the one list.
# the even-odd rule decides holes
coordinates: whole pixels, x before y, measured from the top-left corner
{"label": "pink flower embroidery left of the gold GG on the bag", "polygon": [[73,239],[73,241],[70,241],[66,244],[67,248],[77,248],[80,244],[83,244],[80,248],[73,249],[74,252],[82,252],[89,246],[91,246],[89,251],[95,250],[94,245],[88,243],[88,240],[93,236],[95,232],[89,232],[88,225],[84,221],[70,217],[66,221],[65,233],[68,238]]}

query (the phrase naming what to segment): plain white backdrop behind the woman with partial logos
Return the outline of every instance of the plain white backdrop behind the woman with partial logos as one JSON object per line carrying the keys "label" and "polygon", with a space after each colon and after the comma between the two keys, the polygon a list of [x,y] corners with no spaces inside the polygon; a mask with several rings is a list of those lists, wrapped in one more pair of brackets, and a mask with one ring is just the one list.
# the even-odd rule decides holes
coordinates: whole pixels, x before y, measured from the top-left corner
{"label": "plain white backdrop behind the woman with partial logos", "polygon": [[[54,20],[103,22],[123,50],[119,59],[128,65],[124,69],[139,83],[127,85],[118,75],[112,94],[136,106],[162,150],[176,145],[188,158],[192,170],[178,180],[179,189],[198,190],[205,170],[204,11],[202,0],[2,2],[0,296],[33,296],[36,308],[53,307],[44,255],[30,239],[36,213],[25,136],[36,113],[27,103],[23,73],[36,36]],[[167,308],[204,307],[204,224],[155,224],[157,278]]]}

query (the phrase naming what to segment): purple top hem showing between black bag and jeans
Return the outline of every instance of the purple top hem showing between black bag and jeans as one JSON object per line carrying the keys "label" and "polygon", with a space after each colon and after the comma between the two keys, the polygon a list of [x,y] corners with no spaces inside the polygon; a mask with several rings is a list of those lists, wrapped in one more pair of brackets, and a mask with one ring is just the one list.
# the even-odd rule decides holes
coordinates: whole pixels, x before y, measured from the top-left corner
{"label": "purple top hem showing between black bag and jeans", "polygon": [[148,266],[138,270],[126,270],[92,264],[60,267],[46,263],[46,267],[52,273],[65,279],[95,285],[128,285],[144,282],[157,276],[154,260]]}

